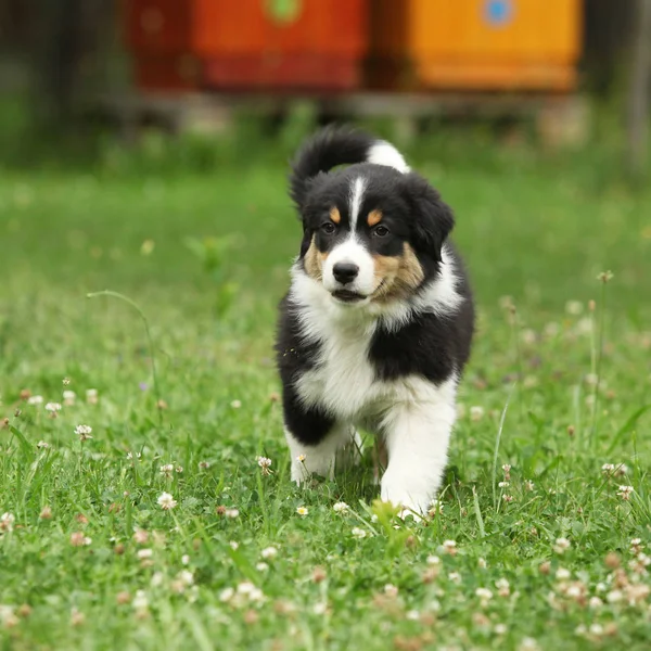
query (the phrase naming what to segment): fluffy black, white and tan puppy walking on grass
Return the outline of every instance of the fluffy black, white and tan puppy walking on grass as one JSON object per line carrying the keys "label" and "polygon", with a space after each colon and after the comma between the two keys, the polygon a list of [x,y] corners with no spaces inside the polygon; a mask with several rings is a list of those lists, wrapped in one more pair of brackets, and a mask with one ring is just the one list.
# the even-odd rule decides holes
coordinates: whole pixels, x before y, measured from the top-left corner
{"label": "fluffy black, white and tan puppy walking on grass", "polygon": [[382,499],[424,513],[474,326],[447,239],[452,213],[393,145],[363,132],[324,129],[292,167],[303,241],[277,341],[292,480],[332,476],[365,426],[388,454]]}

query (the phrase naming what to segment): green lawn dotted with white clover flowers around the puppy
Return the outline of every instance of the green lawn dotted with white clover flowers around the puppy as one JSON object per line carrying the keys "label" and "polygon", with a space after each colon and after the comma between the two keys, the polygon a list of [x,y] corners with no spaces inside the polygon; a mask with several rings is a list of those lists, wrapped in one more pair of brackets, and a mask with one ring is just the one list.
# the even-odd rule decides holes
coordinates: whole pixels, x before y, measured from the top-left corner
{"label": "green lawn dotted with white clover flowers around the puppy", "polygon": [[[651,553],[651,192],[590,165],[469,152],[422,167],[456,208],[480,307],[443,512],[422,524],[372,506],[370,441],[359,471],[289,482],[271,345],[299,229],[280,165],[4,173],[1,648],[647,649],[649,576],[629,563],[633,538]],[[104,289],[146,317],[157,387],[138,311],[86,298]],[[23,390],[77,398],[52,419]],[[222,600],[244,582],[264,600]]]}

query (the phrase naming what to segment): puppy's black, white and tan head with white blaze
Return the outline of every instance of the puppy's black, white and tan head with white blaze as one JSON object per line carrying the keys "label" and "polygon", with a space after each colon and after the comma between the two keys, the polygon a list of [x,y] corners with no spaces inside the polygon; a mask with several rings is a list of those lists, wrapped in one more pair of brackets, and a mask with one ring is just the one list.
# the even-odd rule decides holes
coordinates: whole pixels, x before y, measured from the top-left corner
{"label": "puppy's black, white and tan head with white blaze", "polygon": [[454,226],[423,178],[369,163],[310,179],[301,216],[305,272],[348,305],[416,292],[436,275]]}

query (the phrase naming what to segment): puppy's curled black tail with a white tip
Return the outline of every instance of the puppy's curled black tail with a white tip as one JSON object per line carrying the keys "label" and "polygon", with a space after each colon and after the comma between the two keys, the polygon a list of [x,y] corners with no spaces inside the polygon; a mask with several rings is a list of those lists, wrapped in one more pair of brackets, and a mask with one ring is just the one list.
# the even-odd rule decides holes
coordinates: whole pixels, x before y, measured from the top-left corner
{"label": "puppy's curled black tail with a white tip", "polygon": [[346,127],[326,127],[310,138],[292,162],[290,195],[301,209],[309,188],[317,175],[337,165],[374,163],[395,167],[407,173],[409,167],[398,150],[384,140]]}

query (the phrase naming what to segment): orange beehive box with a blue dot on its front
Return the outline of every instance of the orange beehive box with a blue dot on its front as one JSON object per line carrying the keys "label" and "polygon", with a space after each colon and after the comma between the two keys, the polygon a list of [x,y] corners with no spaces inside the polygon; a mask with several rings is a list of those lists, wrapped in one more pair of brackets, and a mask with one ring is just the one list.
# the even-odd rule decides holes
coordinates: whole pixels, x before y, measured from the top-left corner
{"label": "orange beehive box with a blue dot on its front", "polygon": [[373,0],[373,84],[570,91],[582,0]]}

